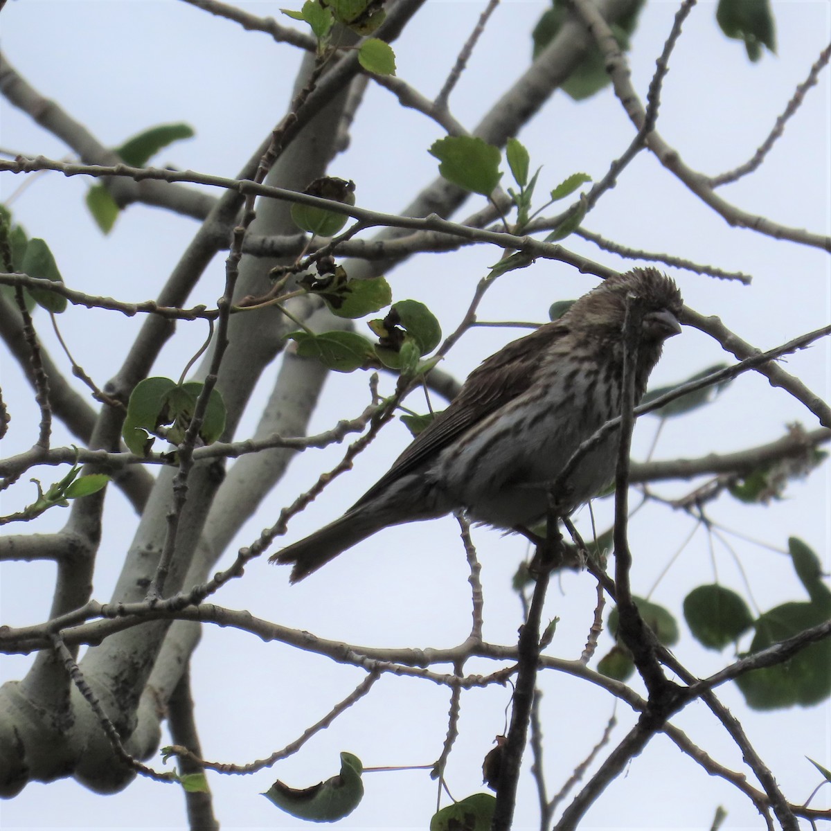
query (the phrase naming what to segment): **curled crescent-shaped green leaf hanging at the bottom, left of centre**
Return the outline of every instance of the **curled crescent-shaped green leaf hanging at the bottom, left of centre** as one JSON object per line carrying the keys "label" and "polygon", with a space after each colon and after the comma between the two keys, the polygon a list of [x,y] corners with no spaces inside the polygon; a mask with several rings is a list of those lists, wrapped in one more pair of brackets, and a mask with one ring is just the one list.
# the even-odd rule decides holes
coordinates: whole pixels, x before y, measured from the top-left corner
{"label": "curled crescent-shaped green leaf hanging at the bottom, left of centre", "polygon": [[333,823],[352,814],[363,797],[363,765],[351,753],[341,754],[341,772],[311,788],[289,788],[279,779],[263,796],[299,819]]}

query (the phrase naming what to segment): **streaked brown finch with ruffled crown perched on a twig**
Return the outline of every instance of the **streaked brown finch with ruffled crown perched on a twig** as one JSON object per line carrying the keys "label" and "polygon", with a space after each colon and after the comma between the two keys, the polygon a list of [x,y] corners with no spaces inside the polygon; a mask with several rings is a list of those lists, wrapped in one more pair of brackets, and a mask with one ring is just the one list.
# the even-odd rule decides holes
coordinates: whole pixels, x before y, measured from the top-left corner
{"label": "streaked brown finch with ruffled crown perched on a twig", "polygon": [[[644,310],[636,403],[667,337],[681,332],[681,293],[655,268],[607,279],[563,317],[483,361],[386,475],[340,519],[283,548],[293,583],[387,525],[464,509],[475,522],[529,528],[546,518],[549,489],[578,446],[621,412],[627,297]],[[567,516],[614,476],[619,433],[579,460],[551,494]]]}

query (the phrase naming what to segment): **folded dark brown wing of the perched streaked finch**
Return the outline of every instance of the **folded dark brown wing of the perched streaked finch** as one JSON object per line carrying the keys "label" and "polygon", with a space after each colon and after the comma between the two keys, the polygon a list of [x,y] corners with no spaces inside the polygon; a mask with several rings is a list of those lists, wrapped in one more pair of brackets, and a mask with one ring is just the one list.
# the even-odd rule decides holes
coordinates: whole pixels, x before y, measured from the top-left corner
{"label": "folded dark brown wing of the perched streaked finch", "polygon": [[384,491],[401,476],[411,473],[460,435],[494,411],[509,404],[534,383],[538,361],[529,365],[529,352],[540,356],[569,332],[563,321],[546,323],[531,334],[509,343],[470,373],[450,406],[393,462],[390,470],[352,506],[357,508]]}

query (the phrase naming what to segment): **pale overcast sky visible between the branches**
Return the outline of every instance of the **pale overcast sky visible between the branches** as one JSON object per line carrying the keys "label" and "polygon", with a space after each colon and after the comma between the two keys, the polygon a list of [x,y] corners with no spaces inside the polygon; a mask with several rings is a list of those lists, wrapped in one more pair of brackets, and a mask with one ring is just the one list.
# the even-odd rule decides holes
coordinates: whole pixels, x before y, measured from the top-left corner
{"label": "pale overcast sky visible between the branches", "polygon": [[[261,16],[281,17],[279,7],[299,3],[246,2],[236,5]],[[475,25],[484,3],[430,0],[396,43],[398,75],[426,96],[435,96],[461,44]],[[450,101],[467,128],[479,118],[527,66],[530,31],[546,4],[503,2],[484,33],[470,66]],[[794,88],[829,41],[826,0],[774,2],[778,54],[765,54],[751,65],[744,48],[726,39],[715,23],[715,5],[702,2],[686,23],[666,79],[658,129],[686,162],[706,174],[740,164],[764,140]],[[632,80],[642,96],[654,70],[676,11],[675,2],[651,0],[632,39]],[[281,18],[288,22],[288,18]],[[194,140],[180,143],[154,160],[217,175],[235,175],[268,134],[288,104],[299,56],[258,32],[244,32],[233,22],[173,0],[11,0],[2,12],[2,47],[8,60],[32,86],[54,99],[85,124],[101,142],[118,145],[143,128],[186,121]],[[831,87],[825,71],[810,91],[784,138],[761,170],[724,189],[726,199],[768,218],[815,233],[831,233]],[[0,100],[0,146],[25,155],[63,158],[65,145],[35,125],[29,116]],[[352,133],[352,145],[332,165],[332,174],[354,179],[357,204],[395,212],[406,205],[436,173],[426,149],[440,128],[413,111],[401,111],[386,91],[370,85]],[[576,171],[599,179],[609,161],[621,155],[632,137],[612,91],[576,104],[553,96],[520,135],[529,147],[532,167],[544,165],[543,192]],[[0,196],[8,199],[22,177],[2,175]],[[88,293],[138,301],[155,296],[189,242],[197,224],[166,211],[136,205],[125,211],[108,237],[102,237],[83,204],[88,182],[76,177],[41,175],[12,202],[15,219],[30,236],[46,238],[66,283]],[[472,200],[463,214],[472,211]],[[686,302],[696,311],[717,314],[755,346],[775,347],[831,319],[831,268],[828,253],[731,229],[661,168],[642,154],[627,169],[617,188],[606,194],[585,222],[587,229],[620,243],[686,257],[753,277],[750,288],[672,270]],[[569,248],[612,266],[627,268],[621,258],[598,251],[578,238]],[[470,301],[475,283],[495,262],[494,248],[476,248],[447,256],[422,255],[389,275],[396,298],[430,302],[445,331],[451,331]],[[224,279],[222,256],[215,258],[192,302],[213,303]],[[534,268],[502,278],[485,297],[484,320],[543,322],[551,302],[577,297],[595,284],[560,263],[539,261]],[[439,296],[440,300],[435,300]],[[37,323],[52,356],[59,350],[45,316]],[[61,332],[76,359],[100,384],[113,375],[140,325],[114,312],[71,308],[61,316]],[[359,324],[360,325],[360,324]],[[445,368],[462,378],[484,356],[522,332],[477,329],[460,342]],[[204,338],[204,328],[180,326],[155,371],[178,376],[184,361]],[[700,332],[686,331],[668,342],[653,383],[681,381],[716,361],[728,360],[718,344]],[[787,369],[829,400],[831,354],[826,340],[789,358]],[[267,373],[259,401],[264,401],[275,371]],[[17,366],[3,358],[2,389],[12,425],[2,455],[27,449],[36,435],[37,411]],[[367,400],[366,374],[333,376],[327,382],[311,430],[326,429],[339,417],[354,416]],[[253,429],[257,413],[246,416],[237,435]],[[686,419],[667,423],[656,448],[658,458],[697,456],[736,450],[783,435],[795,420],[808,429],[813,416],[799,402],[770,387],[754,373],[742,376],[715,405]],[[635,455],[642,458],[652,443],[655,420],[639,423]],[[333,519],[351,504],[406,445],[398,425],[362,456],[354,473],[335,484],[290,527],[287,539],[302,537]],[[71,443],[56,427],[55,445]],[[278,511],[337,463],[342,448],[310,452],[293,463],[290,480],[278,486],[230,547],[224,563],[239,546],[253,541],[272,524]],[[54,471],[32,475],[44,484]],[[28,478],[24,477],[25,479]],[[681,495],[689,484],[666,486],[664,495]],[[34,485],[22,482],[17,492],[2,494],[2,513],[31,502]],[[712,519],[760,539],[779,551],[730,538],[734,556],[708,546],[702,529],[683,548],[652,598],[679,613],[691,586],[711,583],[746,593],[742,571],[760,609],[804,592],[781,553],[789,535],[803,538],[825,558],[828,568],[829,465],[807,481],[789,486],[785,499],[768,508],[742,506],[722,499],[711,506]],[[608,500],[607,500],[608,501]],[[578,524],[588,528],[586,512]],[[597,505],[598,524],[610,516],[607,503]],[[32,530],[61,528],[66,514],[53,509]],[[105,538],[96,572],[94,597],[109,599],[135,517],[116,489],[108,494]],[[649,593],[673,555],[693,530],[690,519],[668,509],[653,509],[632,521],[635,555],[633,586]],[[14,529],[19,531],[19,529]],[[512,643],[520,621],[519,603],[509,579],[524,557],[519,538],[502,538],[475,530],[483,563],[485,637]],[[740,567],[737,563],[740,563]],[[387,646],[450,646],[464,639],[470,626],[465,560],[452,519],[387,529],[297,587],[289,587],[284,570],[264,560],[251,563],[245,578],[229,584],[214,599],[231,608],[283,625],[305,628],[322,637]],[[2,563],[0,623],[40,622],[48,614],[54,568],[50,563]],[[553,654],[577,657],[593,612],[593,581],[568,575],[553,586],[546,615],[561,618]],[[681,623],[678,655],[691,671],[706,676],[730,661],[691,642]],[[604,634],[598,656],[611,647]],[[3,657],[0,681],[19,678],[32,661]],[[481,665],[479,668],[484,667]],[[477,671],[475,662],[468,671]],[[488,671],[492,671],[489,666]],[[211,760],[247,762],[288,744],[324,715],[361,680],[361,673],[332,667],[327,661],[294,654],[288,647],[263,645],[243,632],[207,629],[194,656],[196,716],[204,753]],[[807,755],[831,766],[831,714],[828,704],[809,710],[747,714],[732,687],[720,696],[740,715],[760,755],[773,768],[786,794],[805,799],[817,781]],[[456,798],[480,789],[479,765],[494,735],[503,730],[509,691],[489,688],[465,695],[460,740],[448,769]],[[564,676],[548,677],[543,699],[548,775],[553,789],[597,742],[613,702],[595,687]],[[401,678],[382,679],[373,694],[318,735],[296,757],[253,777],[219,777],[210,783],[224,829],[295,828],[302,825],[268,804],[259,792],[275,776],[305,786],[337,771],[337,753],[351,750],[365,765],[423,765],[435,760],[446,730],[445,688]],[[632,715],[618,707],[619,736]],[[677,723],[691,739],[734,770],[738,751],[724,730],[693,706]],[[166,739],[165,739],[166,741]],[[159,758],[152,760],[161,767]],[[660,777],[661,789],[652,786]],[[823,802],[825,799],[825,803]],[[827,804],[820,794],[817,804]],[[612,785],[593,809],[586,828],[709,827],[715,807],[729,810],[725,828],[759,828],[752,805],[735,789],[706,776],[667,740],[656,739]],[[649,807],[645,809],[645,805]],[[366,799],[338,827],[425,828],[435,810],[435,784],[425,772],[367,774]],[[534,827],[537,809],[533,785],[525,777],[520,789],[517,828]],[[184,800],[175,787],[136,780],[123,793],[102,798],[68,779],[30,784],[16,799],[0,804],[3,829],[182,828]]]}

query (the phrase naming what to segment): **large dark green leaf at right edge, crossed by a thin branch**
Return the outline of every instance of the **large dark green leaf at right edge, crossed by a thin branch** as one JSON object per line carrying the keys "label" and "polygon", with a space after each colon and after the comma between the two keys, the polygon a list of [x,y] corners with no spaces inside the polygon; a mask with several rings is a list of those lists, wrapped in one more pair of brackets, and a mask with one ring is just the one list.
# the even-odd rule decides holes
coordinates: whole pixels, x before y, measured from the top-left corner
{"label": "large dark green leaf at right edge, crossed by a thin branch", "polygon": [[[756,621],[750,654],[827,620],[828,610],[818,604],[783,603]],[[736,684],[754,710],[819,704],[831,695],[831,640],[813,643],[783,664],[739,676]]]}

